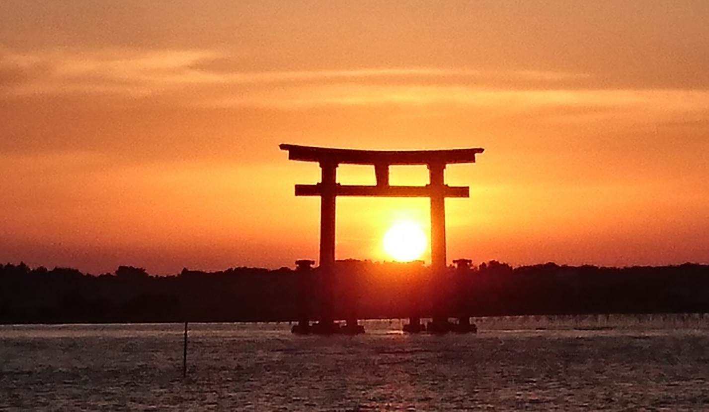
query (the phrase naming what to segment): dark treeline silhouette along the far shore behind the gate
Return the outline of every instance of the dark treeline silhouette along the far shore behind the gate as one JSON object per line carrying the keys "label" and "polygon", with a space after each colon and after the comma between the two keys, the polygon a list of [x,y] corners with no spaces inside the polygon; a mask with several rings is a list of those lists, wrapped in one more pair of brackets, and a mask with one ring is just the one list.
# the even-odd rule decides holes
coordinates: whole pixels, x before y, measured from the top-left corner
{"label": "dark treeline silhouette along the far shore behind the gate", "polygon": [[[290,268],[183,269],[151,276],[120,266],[88,275],[70,268],[0,265],[0,323],[296,321],[303,273]],[[311,319],[318,313],[317,268],[309,275]],[[422,263],[338,261],[335,314],[359,319],[430,316],[444,302],[451,317],[709,311],[709,265],[599,268],[510,267],[491,261],[434,274]],[[457,303],[456,303],[457,302]]]}

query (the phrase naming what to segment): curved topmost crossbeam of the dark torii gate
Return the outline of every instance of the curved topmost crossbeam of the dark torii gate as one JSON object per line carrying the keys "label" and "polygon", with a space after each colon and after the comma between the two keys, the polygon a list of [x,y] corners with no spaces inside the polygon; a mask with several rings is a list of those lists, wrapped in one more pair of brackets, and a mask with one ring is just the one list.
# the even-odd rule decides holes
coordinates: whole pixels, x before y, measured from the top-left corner
{"label": "curved topmost crossbeam of the dark torii gate", "polygon": [[289,160],[332,162],[335,164],[454,164],[474,163],[475,155],[484,149],[445,150],[355,150],[333,149],[330,147],[298,146],[281,144],[281,150],[288,151]]}

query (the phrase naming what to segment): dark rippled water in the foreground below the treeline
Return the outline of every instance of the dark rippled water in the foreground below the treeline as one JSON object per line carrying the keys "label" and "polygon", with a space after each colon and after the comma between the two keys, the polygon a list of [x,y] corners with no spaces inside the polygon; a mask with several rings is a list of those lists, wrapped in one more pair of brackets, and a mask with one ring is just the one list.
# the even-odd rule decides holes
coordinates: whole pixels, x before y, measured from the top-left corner
{"label": "dark rippled water in the foreground below the treeline", "polygon": [[0,411],[709,411],[709,319],[477,319],[476,335],[288,324],[0,326]]}

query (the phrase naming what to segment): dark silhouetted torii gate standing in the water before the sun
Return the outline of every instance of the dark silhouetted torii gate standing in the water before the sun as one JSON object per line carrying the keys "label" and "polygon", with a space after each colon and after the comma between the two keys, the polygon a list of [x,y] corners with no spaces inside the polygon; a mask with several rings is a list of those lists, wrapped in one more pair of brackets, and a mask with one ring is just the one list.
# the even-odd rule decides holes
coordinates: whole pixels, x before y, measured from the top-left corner
{"label": "dark silhouetted torii gate standing in the water before the sun", "polygon": [[[467,186],[449,186],[444,181],[447,164],[474,163],[482,148],[445,150],[354,150],[281,144],[289,160],[316,161],[322,178],[315,185],[296,185],[296,196],[320,196],[320,271],[323,273],[323,307],[319,331],[336,332],[333,319],[333,275],[335,269],[335,198],[337,196],[376,196],[430,198],[431,265],[437,273],[447,268],[445,246],[445,198],[469,198]],[[376,185],[340,185],[337,166],[361,164],[374,166]],[[389,166],[426,165],[430,182],[425,186],[389,185]],[[413,319],[412,319],[413,320]],[[447,317],[434,316],[433,324],[447,322]],[[356,326],[356,325],[355,325]],[[418,327],[418,325],[416,325]]]}

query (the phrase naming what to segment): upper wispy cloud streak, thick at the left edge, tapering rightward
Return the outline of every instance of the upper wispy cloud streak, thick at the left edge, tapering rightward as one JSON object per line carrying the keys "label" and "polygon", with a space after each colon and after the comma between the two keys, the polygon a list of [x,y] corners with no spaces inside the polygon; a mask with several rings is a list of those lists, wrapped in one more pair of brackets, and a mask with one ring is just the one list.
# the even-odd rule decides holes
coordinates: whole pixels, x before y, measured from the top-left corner
{"label": "upper wispy cloud streak, thick at the left edge, tapering rightward", "polygon": [[[211,62],[228,59],[210,50],[46,50],[0,53],[0,76],[16,95],[37,93],[151,94],[190,86],[267,86],[269,84],[333,84],[338,81],[419,80],[463,84],[503,81],[564,81],[587,74],[531,71],[446,69],[437,67],[364,68],[306,71],[240,71],[216,69]],[[13,76],[10,76],[13,74]]]}

